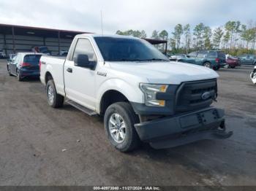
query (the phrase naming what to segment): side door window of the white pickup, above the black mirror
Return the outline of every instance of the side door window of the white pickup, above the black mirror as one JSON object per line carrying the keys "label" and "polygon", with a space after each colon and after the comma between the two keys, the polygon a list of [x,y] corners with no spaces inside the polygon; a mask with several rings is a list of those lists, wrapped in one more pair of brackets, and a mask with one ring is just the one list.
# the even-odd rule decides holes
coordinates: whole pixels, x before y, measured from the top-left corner
{"label": "side door window of the white pickup, above the black mirror", "polygon": [[88,55],[89,61],[97,61],[97,57],[95,55],[94,49],[91,46],[91,42],[89,41],[89,39],[78,39],[78,42],[75,46],[72,61],[74,61],[74,58],[78,55]]}

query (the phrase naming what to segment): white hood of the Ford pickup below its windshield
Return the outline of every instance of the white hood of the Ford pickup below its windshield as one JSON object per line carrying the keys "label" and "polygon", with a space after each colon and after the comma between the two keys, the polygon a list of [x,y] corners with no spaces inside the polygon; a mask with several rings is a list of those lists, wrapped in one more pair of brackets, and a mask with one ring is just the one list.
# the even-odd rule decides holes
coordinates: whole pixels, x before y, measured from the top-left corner
{"label": "white hood of the Ford pickup below its windshield", "polygon": [[217,72],[204,66],[180,62],[108,62],[113,70],[129,73],[150,83],[179,85],[181,82],[213,79]]}

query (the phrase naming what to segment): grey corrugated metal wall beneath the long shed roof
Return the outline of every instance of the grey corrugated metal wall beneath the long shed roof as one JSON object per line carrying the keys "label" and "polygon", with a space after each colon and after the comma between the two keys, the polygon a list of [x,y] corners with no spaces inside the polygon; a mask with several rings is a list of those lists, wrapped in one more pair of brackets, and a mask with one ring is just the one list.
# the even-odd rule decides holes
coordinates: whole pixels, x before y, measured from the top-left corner
{"label": "grey corrugated metal wall beneath the long shed roof", "polygon": [[[6,46],[4,46],[4,34],[0,31],[0,50],[7,50],[7,55],[12,53],[12,35],[6,35]],[[52,52],[52,55],[59,54],[58,38],[44,38],[40,36],[18,36],[15,35],[16,52],[30,52],[31,47],[46,46]],[[69,50],[72,39],[60,39],[60,50]]]}

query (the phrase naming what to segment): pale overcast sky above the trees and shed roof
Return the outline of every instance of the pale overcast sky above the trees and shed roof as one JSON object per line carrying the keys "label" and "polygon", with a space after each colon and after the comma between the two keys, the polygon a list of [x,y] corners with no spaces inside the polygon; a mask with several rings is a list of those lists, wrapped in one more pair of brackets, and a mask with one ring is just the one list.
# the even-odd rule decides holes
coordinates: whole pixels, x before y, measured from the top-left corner
{"label": "pale overcast sky above the trees and shed roof", "polygon": [[256,20],[255,0],[0,0],[0,23],[101,32],[154,29],[169,33],[177,23],[224,25],[227,20]]}

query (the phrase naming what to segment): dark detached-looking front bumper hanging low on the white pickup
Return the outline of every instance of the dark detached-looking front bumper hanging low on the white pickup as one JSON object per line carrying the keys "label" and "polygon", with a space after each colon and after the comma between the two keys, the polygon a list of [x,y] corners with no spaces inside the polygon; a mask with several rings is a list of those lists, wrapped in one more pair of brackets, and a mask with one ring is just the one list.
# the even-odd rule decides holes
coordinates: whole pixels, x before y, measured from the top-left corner
{"label": "dark detached-looking front bumper hanging low on the white pickup", "polygon": [[197,112],[135,124],[141,141],[155,149],[176,147],[203,139],[227,139],[224,110],[210,107]]}

